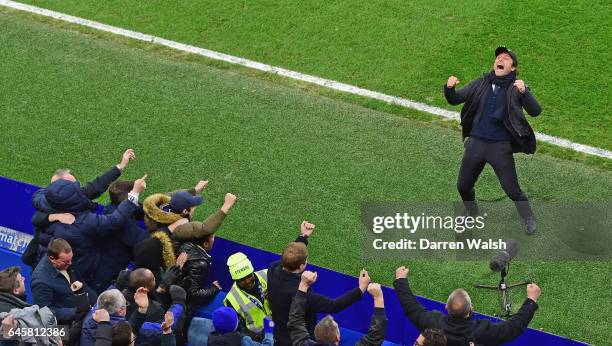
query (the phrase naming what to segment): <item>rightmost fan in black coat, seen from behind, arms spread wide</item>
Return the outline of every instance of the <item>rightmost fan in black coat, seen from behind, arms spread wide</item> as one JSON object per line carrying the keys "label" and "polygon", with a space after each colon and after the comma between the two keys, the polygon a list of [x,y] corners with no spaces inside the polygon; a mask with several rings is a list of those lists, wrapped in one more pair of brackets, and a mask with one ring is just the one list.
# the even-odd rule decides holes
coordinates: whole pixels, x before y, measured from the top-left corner
{"label": "rightmost fan in black coat, seen from behind, arms spread wide", "polygon": [[421,332],[428,328],[443,330],[449,346],[466,345],[468,340],[476,340],[478,345],[499,345],[519,337],[538,309],[536,301],[541,293],[540,287],[529,284],[527,299],[516,315],[507,321],[495,323],[487,319],[472,319],[470,296],[462,289],[454,290],[448,297],[448,316],[440,311],[427,311],[410,290],[407,277],[408,268],[399,267],[393,282],[404,314]]}

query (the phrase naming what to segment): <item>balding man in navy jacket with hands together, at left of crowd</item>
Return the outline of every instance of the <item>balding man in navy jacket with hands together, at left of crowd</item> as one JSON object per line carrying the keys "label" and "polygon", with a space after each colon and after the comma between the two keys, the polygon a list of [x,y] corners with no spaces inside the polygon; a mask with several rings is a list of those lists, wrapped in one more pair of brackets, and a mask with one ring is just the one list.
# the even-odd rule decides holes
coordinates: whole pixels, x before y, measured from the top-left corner
{"label": "balding man in navy jacket with hands together, at left of crowd", "polygon": [[96,292],[87,284],[78,271],[72,268],[72,248],[64,239],[54,239],[49,244],[47,256],[32,273],[32,295],[34,304],[48,306],[55,314],[58,324],[70,324],[76,313],[75,294],[87,294],[90,304],[96,302]]}

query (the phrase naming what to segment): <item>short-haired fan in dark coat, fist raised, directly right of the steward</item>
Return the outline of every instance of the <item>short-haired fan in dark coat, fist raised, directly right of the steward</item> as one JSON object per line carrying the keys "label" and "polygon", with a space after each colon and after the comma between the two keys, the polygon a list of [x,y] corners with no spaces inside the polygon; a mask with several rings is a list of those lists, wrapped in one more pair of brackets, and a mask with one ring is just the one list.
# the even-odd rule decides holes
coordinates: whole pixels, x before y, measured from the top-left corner
{"label": "short-haired fan in dark coat, fist raised, directly right of the steward", "polygon": [[[306,268],[308,237],[314,231],[315,225],[304,221],[301,234],[295,242],[289,243],[283,250],[280,261],[270,264],[268,268],[268,298],[274,321],[274,344],[291,345],[287,323],[291,299],[300,285],[301,275]],[[366,291],[370,277],[364,270],[359,276],[359,287],[356,287],[336,299],[330,299],[314,291],[308,294],[306,303],[306,329],[314,335],[317,313],[333,314],[342,311],[361,299]]]}

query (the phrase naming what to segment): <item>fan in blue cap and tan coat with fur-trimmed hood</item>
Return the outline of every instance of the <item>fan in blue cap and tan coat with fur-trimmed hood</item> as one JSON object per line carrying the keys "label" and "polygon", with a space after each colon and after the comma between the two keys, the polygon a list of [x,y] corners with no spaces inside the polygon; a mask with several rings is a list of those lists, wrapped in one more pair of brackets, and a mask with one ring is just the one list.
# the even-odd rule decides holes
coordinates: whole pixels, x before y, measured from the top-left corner
{"label": "fan in blue cap and tan coat with fur-trimmed hood", "polygon": [[[191,220],[196,206],[203,200],[197,195],[202,193],[206,186],[208,180],[201,180],[189,190],[156,193],[144,200],[144,223],[151,237],[134,246],[134,262],[138,268],[151,270],[158,282],[161,282],[162,272],[176,264],[172,233],[176,227]],[[180,196],[178,199],[175,197],[177,195]],[[176,210],[171,206],[173,198]]]}

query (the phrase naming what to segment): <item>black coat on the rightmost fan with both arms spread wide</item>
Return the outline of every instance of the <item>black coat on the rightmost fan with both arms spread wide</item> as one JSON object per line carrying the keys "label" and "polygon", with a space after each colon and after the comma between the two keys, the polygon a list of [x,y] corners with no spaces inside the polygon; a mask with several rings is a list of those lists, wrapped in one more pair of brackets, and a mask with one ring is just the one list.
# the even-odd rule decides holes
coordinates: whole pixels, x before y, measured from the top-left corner
{"label": "black coat on the rightmost fan with both arms spread wide", "polygon": [[519,337],[533,318],[538,304],[531,299],[525,300],[516,315],[507,321],[492,322],[487,319],[467,319],[449,317],[440,311],[428,311],[416,299],[408,280],[397,279],[393,282],[397,297],[404,314],[419,331],[437,328],[444,331],[448,345],[466,345],[469,339],[478,345],[499,345]]}

